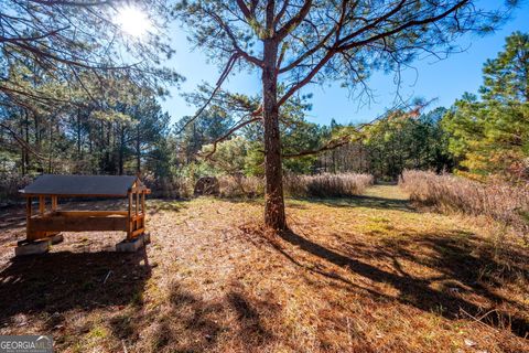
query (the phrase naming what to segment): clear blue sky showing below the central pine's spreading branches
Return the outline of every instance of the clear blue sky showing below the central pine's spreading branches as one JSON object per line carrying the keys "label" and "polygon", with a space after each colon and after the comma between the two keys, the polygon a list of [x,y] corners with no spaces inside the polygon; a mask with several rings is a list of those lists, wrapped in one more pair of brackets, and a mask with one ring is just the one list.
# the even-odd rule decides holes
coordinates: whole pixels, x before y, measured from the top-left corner
{"label": "clear blue sky showing below the central pine's spreading branches", "polygon": [[[500,1],[484,0],[485,6],[494,6]],[[449,107],[465,92],[477,92],[482,84],[482,67],[487,58],[495,57],[503,50],[505,38],[514,31],[529,31],[529,1],[522,1],[515,11],[514,19],[500,30],[487,36],[466,35],[461,39],[461,47],[467,49],[463,53],[451,55],[443,61],[432,57],[415,61],[413,69],[403,74],[400,95],[403,98],[423,97],[436,100],[435,106]],[[186,40],[186,33],[179,26],[171,31],[172,44],[176,54],[165,63],[186,77],[181,89],[171,88],[171,97],[162,101],[162,107],[169,111],[173,122],[183,116],[193,115],[195,107],[188,106],[181,97],[184,92],[192,92],[202,82],[214,84],[219,75],[219,69],[214,64],[208,64],[206,55],[199,50],[192,50]],[[259,76],[257,73],[236,73],[231,75],[224,88],[256,94],[259,92]],[[337,122],[363,122],[382,114],[395,105],[396,85],[392,75],[376,73],[369,79],[369,87],[375,93],[375,101],[369,105],[359,105],[358,99],[350,96],[348,89],[338,84],[327,83],[324,86],[307,86],[304,93],[312,93],[312,110],[307,113],[307,120],[326,125],[331,119]]]}

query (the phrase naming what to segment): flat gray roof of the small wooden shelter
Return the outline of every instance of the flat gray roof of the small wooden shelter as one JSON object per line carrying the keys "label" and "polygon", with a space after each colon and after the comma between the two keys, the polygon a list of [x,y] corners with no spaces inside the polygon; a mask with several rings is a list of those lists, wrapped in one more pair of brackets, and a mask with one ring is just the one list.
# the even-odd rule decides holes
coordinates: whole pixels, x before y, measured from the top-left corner
{"label": "flat gray roof of the small wooden shelter", "polygon": [[133,175],[52,175],[45,174],[20,192],[32,195],[127,196]]}

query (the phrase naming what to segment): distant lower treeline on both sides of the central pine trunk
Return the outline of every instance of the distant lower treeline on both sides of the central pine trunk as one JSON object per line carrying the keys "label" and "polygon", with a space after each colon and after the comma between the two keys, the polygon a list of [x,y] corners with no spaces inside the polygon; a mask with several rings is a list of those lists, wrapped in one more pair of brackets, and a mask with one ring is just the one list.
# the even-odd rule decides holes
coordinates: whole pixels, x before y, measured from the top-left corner
{"label": "distant lower treeline on both sides of the central pine trunk", "polygon": [[[334,120],[331,126],[298,121],[302,128],[295,130],[282,126],[283,168],[292,174],[355,172],[382,180],[397,180],[404,169],[452,170],[455,160],[441,127],[446,109],[438,108],[413,117],[409,113],[392,111],[391,116],[361,129],[354,125],[338,125]],[[186,150],[202,151],[202,156],[207,156],[213,147],[201,142],[212,141],[215,136],[204,139],[198,135],[194,139],[193,133],[205,130],[197,130],[193,125],[187,131],[190,135],[184,145],[191,145],[193,149]],[[262,143],[252,138],[251,130],[247,130],[217,143],[215,154],[201,158],[192,153],[187,160],[193,161],[198,174],[259,176],[263,173],[261,151]]]}

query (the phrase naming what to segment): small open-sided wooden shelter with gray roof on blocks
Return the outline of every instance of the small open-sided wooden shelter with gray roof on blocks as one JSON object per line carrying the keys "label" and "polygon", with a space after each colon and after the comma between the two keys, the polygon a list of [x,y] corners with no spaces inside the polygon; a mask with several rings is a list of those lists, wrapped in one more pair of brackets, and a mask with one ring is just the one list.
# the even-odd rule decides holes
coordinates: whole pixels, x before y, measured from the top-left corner
{"label": "small open-sided wooden shelter with gray roof on blocks", "polygon": [[[145,232],[145,194],[151,191],[134,175],[45,174],[20,190],[26,199],[26,240],[60,232],[123,231],[132,240]],[[58,199],[127,197],[127,210],[66,211]],[[33,212],[33,200],[39,201]]]}

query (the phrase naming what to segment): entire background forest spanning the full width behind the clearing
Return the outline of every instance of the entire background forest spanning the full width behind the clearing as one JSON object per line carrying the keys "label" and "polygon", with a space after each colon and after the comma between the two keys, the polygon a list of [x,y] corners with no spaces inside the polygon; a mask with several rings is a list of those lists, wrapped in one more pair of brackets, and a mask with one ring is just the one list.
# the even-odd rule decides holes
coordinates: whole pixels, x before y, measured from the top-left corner
{"label": "entire background forest spanning the full width behind the clearing", "polygon": [[[514,33],[505,51],[484,64],[478,93],[465,94],[447,108],[417,99],[369,124],[312,124],[305,119],[310,95],[293,98],[280,116],[285,173],[354,172],[396,181],[415,169],[527,182],[528,57],[529,35]],[[262,127],[248,125],[230,133],[260,97],[220,92],[198,119],[184,117],[172,125],[159,104],[165,92],[141,87],[128,75],[72,74],[86,75],[94,83],[86,86],[35,75],[20,63],[3,67],[3,74],[15,83],[0,96],[4,200],[40,173],[141,173],[156,195],[170,197],[188,196],[204,175],[236,181],[263,175]],[[204,85],[186,98],[201,107],[212,90]]]}

